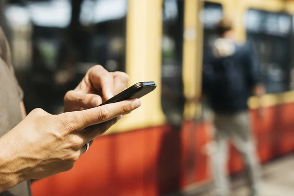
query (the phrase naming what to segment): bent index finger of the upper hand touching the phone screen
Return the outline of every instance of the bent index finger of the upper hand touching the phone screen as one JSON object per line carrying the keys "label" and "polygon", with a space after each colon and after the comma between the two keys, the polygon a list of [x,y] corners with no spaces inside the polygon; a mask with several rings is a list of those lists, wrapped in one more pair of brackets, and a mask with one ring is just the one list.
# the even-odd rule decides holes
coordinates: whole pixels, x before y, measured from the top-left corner
{"label": "bent index finger of the upper hand touching the phone screen", "polygon": [[97,90],[102,90],[103,98],[106,100],[112,98],[113,95],[113,76],[102,66],[95,66],[89,72],[91,84]]}

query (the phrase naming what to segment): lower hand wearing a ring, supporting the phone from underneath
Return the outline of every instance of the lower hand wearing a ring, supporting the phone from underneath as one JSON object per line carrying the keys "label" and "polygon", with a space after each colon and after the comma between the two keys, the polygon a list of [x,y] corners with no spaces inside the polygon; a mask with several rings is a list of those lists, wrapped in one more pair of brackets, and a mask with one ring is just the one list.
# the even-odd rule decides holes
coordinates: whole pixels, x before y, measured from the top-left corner
{"label": "lower hand wearing a ring, supporting the phone from underneath", "polygon": [[17,175],[16,185],[71,170],[87,142],[140,105],[139,99],[130,99],[60,115],[33,110],[0,138],[0,188],[13,175]]}

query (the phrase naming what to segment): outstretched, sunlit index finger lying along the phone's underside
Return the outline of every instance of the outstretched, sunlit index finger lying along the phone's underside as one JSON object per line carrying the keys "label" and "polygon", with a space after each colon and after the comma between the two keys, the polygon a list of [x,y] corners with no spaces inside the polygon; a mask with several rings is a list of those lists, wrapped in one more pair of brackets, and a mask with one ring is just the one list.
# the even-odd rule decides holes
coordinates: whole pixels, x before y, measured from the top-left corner
{"label": "outstretched, sunlit index finger lying along the phone's underside", "polygon": [[66,125],[69,131],[82,130],[88,126],[109,121],[140,107],[138,98],[110,103],[82,111],[68,112],[58,115],[61,125]]}

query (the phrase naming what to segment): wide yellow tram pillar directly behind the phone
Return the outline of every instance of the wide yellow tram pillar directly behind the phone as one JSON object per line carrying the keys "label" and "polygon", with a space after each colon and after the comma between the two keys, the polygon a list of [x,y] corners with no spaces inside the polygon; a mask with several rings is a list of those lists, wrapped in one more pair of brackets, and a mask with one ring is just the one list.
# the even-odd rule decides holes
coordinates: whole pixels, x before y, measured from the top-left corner
{"label": "wide yellow tram pillar directly behind the phone", "polygon": [[161,109],[162,0],[128,0],[126,73],[129,85],[155,81],[157,88],[142,106],[126,115],[110,132],[134,130],[165,123]]}

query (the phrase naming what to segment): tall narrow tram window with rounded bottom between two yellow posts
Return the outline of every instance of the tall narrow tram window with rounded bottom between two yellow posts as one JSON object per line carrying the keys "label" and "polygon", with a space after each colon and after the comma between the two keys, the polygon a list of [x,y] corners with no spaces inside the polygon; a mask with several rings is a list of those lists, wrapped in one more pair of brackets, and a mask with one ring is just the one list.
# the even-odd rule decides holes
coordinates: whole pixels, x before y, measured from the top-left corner
{"label": "tall narrow tram window with rounded bottom between two yellow posts", "polygon": [[163,1],[162,35],[162,109],[173,125],[183,120],[182,81],[183,0]]}

